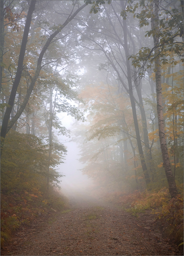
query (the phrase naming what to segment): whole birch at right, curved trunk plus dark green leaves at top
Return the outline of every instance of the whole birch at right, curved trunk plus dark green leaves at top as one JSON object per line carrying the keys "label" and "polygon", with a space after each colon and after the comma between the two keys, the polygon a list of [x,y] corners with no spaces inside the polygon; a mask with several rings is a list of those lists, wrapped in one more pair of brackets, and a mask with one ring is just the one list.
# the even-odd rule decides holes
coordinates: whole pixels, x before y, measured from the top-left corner
{"label": "whole birch at right, curved trunk plus dark green leaves at top", "polygon": [[[177,4],[178,3],[179,1],[177,1]],[[129,1],[129,6],[126,8],[126,11],[134,13],[138,8],[139,3],[136,3],[133,7],[131,4],[133,4],[133,2]],[[164,6],[164,4],[167,6]],[[145,75],[145,70],[150,68],[153,63],[155,66],[154,73],[156,78],[156,102],[159,140],[161,144],[163,164],[169,185],[169,191],[171,196],[175,197],[177,195],[177,188],[174,176],[172,174],[164,130],[165,127],[162,106],[161,66],[165,63],[168,63],[167,57],[170,56],[170,52],[174,52],[179,57],[183,56],[183,41],[180,40],[180,37],[183,37],[183,22],[181,21],[182,6],[179,6],[178,9],[170,8],[170,10],[167,10],[168,3],[165,1],[149,1],[147,5],[145,5],[145,1],[141,1],[140,7],[143,10],[141,10],[141,12],[137,13],[136,15],[134,14],[134,17],[139,19],[140,27],[149,25],[148,20],[151,20],[151,30],[147,31],[146,36],[153,36],[154,47],[152,49],[148,47],[142,47],[136,55],[132,56],[132,62],[136,67],[140,67],[140,78]],[[162,10],[162,12],[160,12],[160,10]],[[124,10],[122,11],[122,15],[124,16],[124,19],[126,19]],[[168,15],[170,18],[165,19],[165,15]],[[141,62],[143,62],[142,65]],[[176,65],[177,61],[172,58],[171,63]]]}

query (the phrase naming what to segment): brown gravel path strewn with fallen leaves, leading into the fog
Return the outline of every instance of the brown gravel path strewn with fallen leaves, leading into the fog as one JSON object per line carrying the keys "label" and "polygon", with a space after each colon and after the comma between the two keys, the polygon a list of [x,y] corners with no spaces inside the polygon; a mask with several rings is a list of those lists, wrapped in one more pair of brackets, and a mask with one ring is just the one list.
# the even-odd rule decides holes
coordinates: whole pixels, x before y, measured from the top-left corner
{"label": "brown gravel path strewn with fallen leaves, leading into the fog", "polygon": [[70,204],[71,211],[19,229],[1,255],[181,255],[153,227],[150,212],[135,217],[89,199]]}

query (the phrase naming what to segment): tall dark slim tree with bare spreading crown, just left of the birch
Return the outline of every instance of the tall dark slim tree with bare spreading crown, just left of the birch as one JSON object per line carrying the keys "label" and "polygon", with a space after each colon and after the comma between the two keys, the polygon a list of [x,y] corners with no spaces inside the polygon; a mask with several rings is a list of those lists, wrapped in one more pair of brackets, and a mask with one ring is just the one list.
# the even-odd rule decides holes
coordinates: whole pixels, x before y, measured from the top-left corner
{"label": "tall dark slim tree with bare spreading crown, just left of the birch", "polygon": [[[130,55],[130,45],[128,45],[128,40],[129,38],[131,39],[131,36],[130,31],[128,30],[128,26],[126,24],[126,20],[120,20],[118,14],[115,11],[115,8],[117,9],[119,6],[123,6],[123,8],[125,8],[126,1],[118,1],[118,7],[116,6],[115,2],[112,2],[110,6],[111,11],[108,11],[108,8],[104,7],[105,12],[102,15],[99,15],[98,19],[95,19],[95,22],[97,23],[97,25],[95,24],[96,26],[94,25],[94,22],[92,22],[90,19],[89,21],[83,22],[81,24],[83,27],[77,29],[81,34],[81,37],[79,37],[80,41],[78,41],[78,44],[83,47],[86,47],[88,50],[91,49],[95,51],[98,48],[100,51],[102,51],[105,57],[107,58],[107,65],[111,66],[114,69],[116,77],[118,78],[122,86],[122,90],[125,89],[125,91],[129,95],[131,99],[132,113],[135,124],[136,138],[138,141],[140,160],[145,180],[146,183],[148,184],[150,183],[150,178],[140,139],[140,128],[137,120],[136,104],[139,106],[141,111],[141,116],[143,119],[142,124],[144,138],[145,140],[147,139],[147,141],[145,141],[144,143],[147,145],[149,150],[148,131],[146,127],[146,116],[144,112],[141,93],[139,93],[140,102],[136,100],[133,93],[133,73],[131,62],[128,58]],[[108,26],[107,24],[110,24],[110,26]],[[91,36],[91,33],[93,33],[93,36]],[[127,69],[125,67],[127,67]],[[140,91],[138,90],[138,92]]]}

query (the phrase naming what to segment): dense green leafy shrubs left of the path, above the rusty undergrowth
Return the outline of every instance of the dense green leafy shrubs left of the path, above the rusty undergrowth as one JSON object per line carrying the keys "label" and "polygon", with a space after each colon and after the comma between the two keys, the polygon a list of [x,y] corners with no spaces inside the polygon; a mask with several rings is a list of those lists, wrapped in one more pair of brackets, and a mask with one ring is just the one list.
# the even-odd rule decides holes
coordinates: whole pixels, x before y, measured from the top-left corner
{"label": "dense green leafy shrubs left of the path, above the rusty undergrowth", "polygon": [[[52,167],[60,163],[59,156],[63,157],[66,152],[64,145],[53,143]],[[23,188],[26,189],[27,186],[29,192],[33,193],[37,183],[40,183],[38,188],[41,188],[46,182],[47,158],[48,146],[41,139],[11,130],[6,136],[1,157],[2,189],[8,188],[11,193],[11,190],[18,191]],[[57,177],[58,174],[55,173],[51,183]]]}

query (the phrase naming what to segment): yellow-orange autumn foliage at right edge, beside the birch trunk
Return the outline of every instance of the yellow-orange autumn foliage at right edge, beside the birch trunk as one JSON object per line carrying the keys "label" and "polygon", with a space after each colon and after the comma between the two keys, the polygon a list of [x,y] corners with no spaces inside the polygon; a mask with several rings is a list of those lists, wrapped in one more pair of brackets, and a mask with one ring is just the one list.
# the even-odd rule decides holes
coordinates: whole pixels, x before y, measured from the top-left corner
{"label": "yellow-orange autumn foliage at right edge, beside the birch trunk", "polygon": [[[182,182],[183,180],[183,152],[181,144],[183,142],[183,70],[180,70],[181,62],[178,64],[165,64],[162,66],[162,75],[167,83],[162,84],[163,105],[164,105],[164,123],[165,135],[167,138],[167,148],[172,165],[175,179]],[[171,69],[171,72],[168,70]],[[155,80],[154,74],[152,74]],[[149,132],[149,139],[158,140],[158,129]],[[157,157],[157,156],[156,156]],[[158,159],[158,158],[157,158]],[[157,163],[157,167],[161,171],[163,160]]]}

